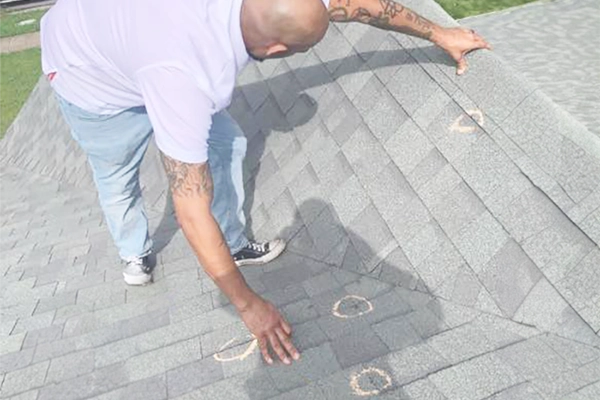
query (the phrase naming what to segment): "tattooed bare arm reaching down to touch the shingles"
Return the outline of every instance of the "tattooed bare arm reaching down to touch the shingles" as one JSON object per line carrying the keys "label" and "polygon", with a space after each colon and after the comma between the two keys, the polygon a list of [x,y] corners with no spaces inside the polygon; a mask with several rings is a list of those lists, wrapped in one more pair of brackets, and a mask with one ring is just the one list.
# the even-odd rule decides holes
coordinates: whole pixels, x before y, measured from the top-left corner
{"label": "tattooed bare arm reaching down to touch the shingles", "polygon": [[[250,332],[258,340],[263,357],[273,360],[268,344],[289,364],[290,354],[299,358],[291,328],[270,303],[250,289],[229,252],[223,234],[212,216],[213,182],[208,163],[185,163],[161,153],[177,220],[206,273],[231,300]],[[285,349],[285,350],[284,350]]]}

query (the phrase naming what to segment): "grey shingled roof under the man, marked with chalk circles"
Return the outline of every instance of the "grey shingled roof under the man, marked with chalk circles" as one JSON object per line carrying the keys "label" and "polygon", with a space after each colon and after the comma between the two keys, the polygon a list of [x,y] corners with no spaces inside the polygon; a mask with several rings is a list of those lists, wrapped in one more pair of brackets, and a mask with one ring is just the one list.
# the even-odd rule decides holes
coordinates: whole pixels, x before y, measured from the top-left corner
{"label": "grey shingled roof under the man, marked with chalk circles", "polygon": [[[406,3],[456,24],[433,1]],[[249,226],[289,241],[244,275],[295,326],[304,358],[288,369],[261,365],[198,272],[154,147],[142,180],[156,282],[124,286],[40,81],[0,143],[2,390],[597,397],[600,139],[493,53],[470,65],[456,77],[425,42],[348,24],[240,76],[230,112],[248,137]],[[241,347],[222,352],[230,339]]]}

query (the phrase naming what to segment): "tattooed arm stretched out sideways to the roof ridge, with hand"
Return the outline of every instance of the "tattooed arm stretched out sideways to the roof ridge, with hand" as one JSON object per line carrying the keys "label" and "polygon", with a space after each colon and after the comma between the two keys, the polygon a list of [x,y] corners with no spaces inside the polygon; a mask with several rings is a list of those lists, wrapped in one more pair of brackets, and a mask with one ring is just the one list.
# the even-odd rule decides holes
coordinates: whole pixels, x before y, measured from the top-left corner
{"label": "tattooed arm stretched out sideways to the roof ridge, with hand", "polygon": [[456,61],[459,75],[467,69],[467,53],[477,49],[491,49],[475,31],[443,28],[393,0],[331,0],[329,16],[335,22],[362,22],[430,40]]}

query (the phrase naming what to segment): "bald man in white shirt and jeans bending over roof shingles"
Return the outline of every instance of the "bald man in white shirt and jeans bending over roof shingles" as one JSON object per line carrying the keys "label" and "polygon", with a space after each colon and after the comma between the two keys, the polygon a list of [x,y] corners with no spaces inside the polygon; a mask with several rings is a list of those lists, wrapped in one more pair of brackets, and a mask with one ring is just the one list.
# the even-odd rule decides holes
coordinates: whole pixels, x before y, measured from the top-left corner
{"label": "bald man in white shirt and jeans bending over roof shingles", "polygon": [[[207,274],[231,300],[264,359],[268,345],[299,358],[291,328],[252,291],[238,266],[265,263],[282,241],[250,242],[242,160],[246,140],[224,109],[249,61],[318,43],[329,20],[429,39],[466,69],[488,48],[475,32],[444,29],[392,0],[59,0],[42,21],[42,64],[85,151],[130,285],[151,280],[139,166],[154,133],[177,220]],[[327,8],[327,6],[329,8]]]}

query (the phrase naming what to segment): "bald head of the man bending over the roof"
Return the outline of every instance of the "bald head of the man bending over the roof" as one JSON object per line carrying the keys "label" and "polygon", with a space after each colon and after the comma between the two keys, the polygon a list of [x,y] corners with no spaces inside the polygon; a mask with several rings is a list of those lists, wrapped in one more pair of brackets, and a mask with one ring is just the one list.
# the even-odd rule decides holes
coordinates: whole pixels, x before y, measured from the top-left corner
{"label": "bald head of the man bending over the roof", "polygon": [[317,44],[329,26],[321,0],[244,0],[242,34],[255,58],[284,57]]}

